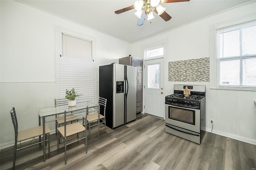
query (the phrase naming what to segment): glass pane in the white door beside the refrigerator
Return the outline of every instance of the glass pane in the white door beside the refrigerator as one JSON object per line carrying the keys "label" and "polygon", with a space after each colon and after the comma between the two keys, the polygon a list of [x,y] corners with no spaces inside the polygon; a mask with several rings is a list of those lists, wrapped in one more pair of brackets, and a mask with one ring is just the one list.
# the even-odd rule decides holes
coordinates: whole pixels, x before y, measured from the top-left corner
{"label": "glass pane in the white door beside the refrigerator", "polygon": [[159,89],[160,64],[148,65],[148,88]]}

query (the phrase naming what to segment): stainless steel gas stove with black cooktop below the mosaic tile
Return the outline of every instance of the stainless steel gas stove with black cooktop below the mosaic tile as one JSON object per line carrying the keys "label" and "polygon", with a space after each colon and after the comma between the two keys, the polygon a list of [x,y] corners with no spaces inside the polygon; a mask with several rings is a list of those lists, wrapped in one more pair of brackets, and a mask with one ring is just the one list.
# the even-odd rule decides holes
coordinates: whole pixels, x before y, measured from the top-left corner
{"label": "stainless steel gas stove with black cooktop below the mosaic tile", "polygon": [[[185,97],[184,89],[190,89]],[[165,97],[165,131],[200,144],[205,134],[205,85],[174,85]]]}

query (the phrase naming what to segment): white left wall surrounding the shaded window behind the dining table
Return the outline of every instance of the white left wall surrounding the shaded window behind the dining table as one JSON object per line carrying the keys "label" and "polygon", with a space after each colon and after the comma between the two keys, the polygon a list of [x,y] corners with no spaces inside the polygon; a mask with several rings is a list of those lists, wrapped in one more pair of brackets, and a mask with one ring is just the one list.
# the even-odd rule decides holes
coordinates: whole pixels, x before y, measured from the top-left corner
{"label": "white left wall surrounding the shaded window behind the dining table", "polygon": [[[17,1],[1,0],[0,7],[0,148],[4,148],[14,144],[12,107],[23,130],[38,125],[36,107],[54,102],[56,28],[95,40],[96,75],[99,65],[118,63],[118,58],[130,54],[131,45]],[[50,128],[55,131],[54,123]]]}

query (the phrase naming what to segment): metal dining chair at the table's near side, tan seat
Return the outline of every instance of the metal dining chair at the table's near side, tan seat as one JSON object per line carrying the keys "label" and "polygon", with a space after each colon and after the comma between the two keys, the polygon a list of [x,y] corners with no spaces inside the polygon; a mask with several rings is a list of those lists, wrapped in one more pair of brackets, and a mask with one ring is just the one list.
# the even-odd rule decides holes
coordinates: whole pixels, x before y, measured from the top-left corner
{"label": "metal dining chair at the table's near side, tan seat", "polygon": [[[81,116],[83,117],[84,114],[87,115],[88,113],[88,107],[86,109],[86,111],[84,112],[80,112],[80,114],[82,115],[77,115],[78,117]],[[86,118],[85,115],[85,118]],[[74,115],[73,115],[74,116]],[[60,141],[64,144],[65,147],[65,165],[67,164],[67,145],[72,144],[74,142],[79,142],[79,140],[82,140],[85,138],[85,149],[86,149],[86,154],[87,154],[87,134],[86,134],[86,127],[84,127],[80,122],[76,122],[76,123],[72,123],[67,125],[66,121],[68,120],[68,118],[71,118],[71,115],[68,115],[67,112],[64,112],[64,126],[62,127],[58,127],[58,141],[57,141],[57,152],[59,152],[59,143]],[[85,131],[85,133],[84,133]],[[81,133],[84,137],[79,138],[79,133]],[[72,140],[71,142],[67,142],[67,137],[68,136],[72,136],[73,134],[77,134],[77,140]],[[71,137],[70,137],[71,138]]]}

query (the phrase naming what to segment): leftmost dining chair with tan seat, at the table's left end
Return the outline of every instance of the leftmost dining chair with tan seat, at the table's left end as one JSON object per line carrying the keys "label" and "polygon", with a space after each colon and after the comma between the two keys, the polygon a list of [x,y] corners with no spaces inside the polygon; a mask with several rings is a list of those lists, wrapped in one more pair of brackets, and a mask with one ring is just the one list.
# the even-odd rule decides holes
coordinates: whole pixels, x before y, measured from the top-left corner
{"label": "leftmost dining chair with tan seat, at the table's left end", "polygon": [[[14,132],[15,132],[14,159],[13,159],[13,165],[12,165],[12,169],[14,170],[17,150],[24,149],[29,146],[33,146],[33,145],[44,142],[39,140],[38,142],[31,144],[33,139],[36,140],[36,137],[41,137],[43,135],[43,126],[38,126],[38,127],[33,127],[26,130],[18,131],[18,121],[17,121],[15,107],[12,108],[12,110],[10,111],[10,114],[12,117],[12,123],[14,126]],[[50,128],[47,125],[45,125],[45,134],[47,136],[46,141],[48,141],[48,156],[50,156]],[[30,144],[22,147],[21,142],[28,139],[32,139]],[[20,147],[17,149],[18,142],[20,142]]]}

